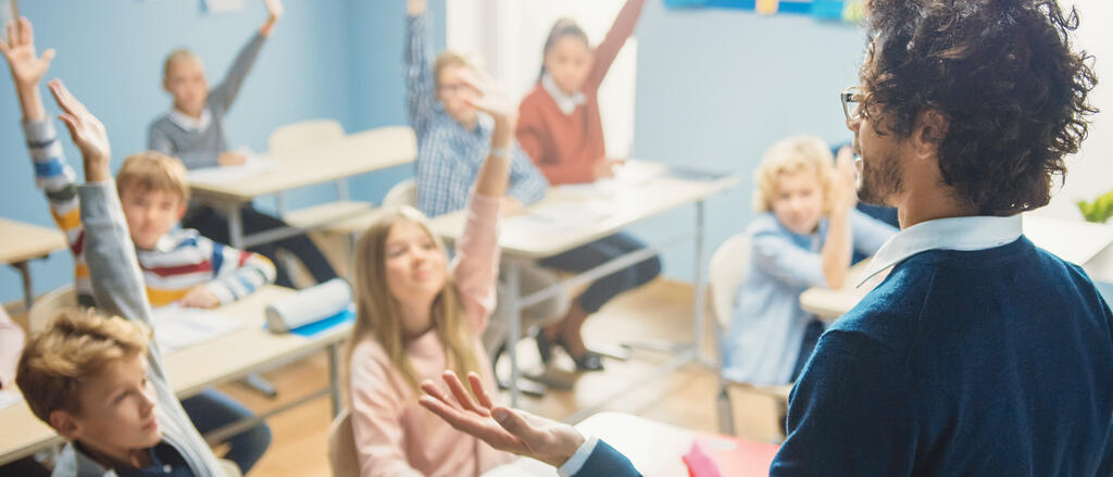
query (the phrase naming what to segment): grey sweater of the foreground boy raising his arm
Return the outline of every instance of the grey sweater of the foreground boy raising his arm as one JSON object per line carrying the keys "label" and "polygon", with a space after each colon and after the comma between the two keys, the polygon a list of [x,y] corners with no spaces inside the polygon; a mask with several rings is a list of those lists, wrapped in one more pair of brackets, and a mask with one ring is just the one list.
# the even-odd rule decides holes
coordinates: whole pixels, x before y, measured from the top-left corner
{"label": "grey sweater of the foreground boy raising his arm", "polygon": [[[78,187],[81,222],[85,223],[85,250],[97,308],[150,326],[150,304],[128,235],[116,185],[106,181]],[[162,356],[151,340],[147,352],[150,380],[158,396],[157,418],[162,441],[173,446],[197,477],[219,477],[224,473],[205,439],[194,428],[186,411],[166,380]],[[56,464],[53,477],[109,477],[111,469],[100,466],[72,443],[66,445]]]}

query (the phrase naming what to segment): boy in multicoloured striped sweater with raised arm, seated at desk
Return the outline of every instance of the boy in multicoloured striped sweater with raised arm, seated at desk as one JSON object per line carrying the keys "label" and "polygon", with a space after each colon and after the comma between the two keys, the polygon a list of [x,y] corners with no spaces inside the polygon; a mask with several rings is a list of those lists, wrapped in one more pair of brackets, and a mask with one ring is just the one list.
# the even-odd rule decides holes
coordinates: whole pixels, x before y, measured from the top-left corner
{"label": "boy in multicoloured striped sweater with raised arm, seated at desk", "polygon": [[[36,183],[46,192],[51,216],[73,252],[78,304],[92,306],[93,288],[87,265],[88,223],[81,216],[76,175],[66,163],[61,141],[39,96],[39,81],[53,50],[46,51],[42,58],[36,56],[33,32],[27,19],[20,19],[18,29],[10,28],[18,32],[10,46],[2,47],[2,52],[16,85]],[[132,254],[141,267],[146,296],[154,306],[210,308],[235,301],[274,281],[274,266],[265,257],[214,242],[195,230],[174,229],[189,198],[185,170],[176,159],[151,151],[130,156],[115,186],[136,245]],[[183,406],[203,431],[254,417],[250,410],[215,389],[186,399]],[[228,443],[229,459],[246,471],[263,456],[270,443],[270,431],[260,424]]]}

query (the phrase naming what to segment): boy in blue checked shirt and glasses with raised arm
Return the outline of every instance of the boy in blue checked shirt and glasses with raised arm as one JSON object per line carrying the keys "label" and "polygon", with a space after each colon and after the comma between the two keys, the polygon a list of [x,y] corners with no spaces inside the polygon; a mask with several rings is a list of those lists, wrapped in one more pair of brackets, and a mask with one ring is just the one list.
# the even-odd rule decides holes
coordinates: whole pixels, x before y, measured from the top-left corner
{"label": "boy in blue checked shirt and glasses with raised arm", "polygon": [[[426,44],[425,0],[408,0],[406,28],[406,85],[410,123],[417,136],[417,209],[436,217],[467,206],[469,191],[480,166],[492,152],[510,157],[510,189],[503,198],[504,215],[518,213],[541,200],[549,189],[544,176],[511,140],[506,150],[492,150],[494,120],[476,110],[470,100],[476,91],[461,80],[475,69],[460,54],[445,51],[431,67]],[[548,288],[559,279],[549,270],[526,264],[519,267],[522,295]],[[529,324],[551,322],[568,310],[561,294],[523,310]],[[493,355],[505,341],[504,320],[492,322],[483,337]]]}

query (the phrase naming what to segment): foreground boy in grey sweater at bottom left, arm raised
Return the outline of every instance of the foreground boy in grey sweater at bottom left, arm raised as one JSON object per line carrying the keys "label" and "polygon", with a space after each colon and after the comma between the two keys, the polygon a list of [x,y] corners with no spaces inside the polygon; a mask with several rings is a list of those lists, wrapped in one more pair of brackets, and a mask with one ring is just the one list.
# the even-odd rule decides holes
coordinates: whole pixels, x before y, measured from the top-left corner
{"label": "foreground boy in grey sweater at bottom left, arm raised", "polygon": [[[21,22],[29,38],[30,24]],[[30,44],[13,41],[4,56],[11,61],[12,52],[28,52]],[[28,340],[19,361],[16,382],[31,411],[68,440],[53,476],[223,476],[167,384],[158,347],[149,342],[150,306],[112,187],[105,128],[60,81],[51,81],[50,90],[85,162],[86,183],[73,192],[80,197],[98,305],[98,311],[61,311]]]}

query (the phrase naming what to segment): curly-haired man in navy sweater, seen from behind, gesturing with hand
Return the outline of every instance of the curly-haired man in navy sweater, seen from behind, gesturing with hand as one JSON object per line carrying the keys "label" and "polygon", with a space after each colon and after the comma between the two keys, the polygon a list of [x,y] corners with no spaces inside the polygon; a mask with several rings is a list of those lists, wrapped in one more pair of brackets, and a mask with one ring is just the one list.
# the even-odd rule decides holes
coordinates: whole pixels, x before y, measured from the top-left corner
{"label": "curly-haired man in navy sweater, seen from behind, gesturing with hand", "polygon": [[[861,86],[841,98],[858,197],[895,206],[902,231],[867,270],[888,276],[796,381],[769,474],[1113,475],[1113,314],[1020,215],[1051,199],[1096,111],[1077,16],[1053,0],[926,3],[869,2]],[[571,426],[439,396],[422,404],[562,475],[638,475]]]}

